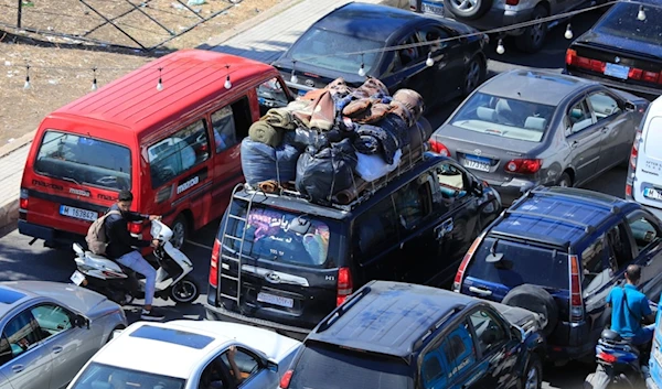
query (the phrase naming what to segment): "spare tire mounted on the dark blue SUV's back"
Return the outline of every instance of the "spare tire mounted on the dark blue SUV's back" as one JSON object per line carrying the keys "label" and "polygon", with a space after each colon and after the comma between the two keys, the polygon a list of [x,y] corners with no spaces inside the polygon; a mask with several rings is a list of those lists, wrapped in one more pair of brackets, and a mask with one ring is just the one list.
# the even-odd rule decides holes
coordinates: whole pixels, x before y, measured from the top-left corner
{"label": "spare tire mounted on the dark blue SUV's back", "polygon": [[513,288],[503,298],[502,303],[528,310],[546,318],[547,324],[542,328],[544,336],[552,334],[558,323],[558,306],[549,292],[541,287],[525,283]]}

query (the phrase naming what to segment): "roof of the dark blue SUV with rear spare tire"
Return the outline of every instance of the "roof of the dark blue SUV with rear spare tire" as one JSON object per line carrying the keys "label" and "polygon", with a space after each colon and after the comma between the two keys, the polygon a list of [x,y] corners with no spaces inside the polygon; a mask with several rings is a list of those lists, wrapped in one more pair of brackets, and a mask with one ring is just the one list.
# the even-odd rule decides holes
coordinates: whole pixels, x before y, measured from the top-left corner
{"label": "roof of the dark blue SUV with rear spare tire", "polygon": [[538,187],[506,209],[490,234],[567,247],[617,214],[634,208],[631,202],[598,192]]}

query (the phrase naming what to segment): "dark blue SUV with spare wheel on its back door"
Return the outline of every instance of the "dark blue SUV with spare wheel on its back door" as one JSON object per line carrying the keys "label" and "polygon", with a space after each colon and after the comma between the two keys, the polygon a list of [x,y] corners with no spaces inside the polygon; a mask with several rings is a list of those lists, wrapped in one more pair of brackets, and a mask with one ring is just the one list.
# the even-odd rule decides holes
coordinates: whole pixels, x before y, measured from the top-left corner
{"label": "dark blue SUV with spare wheel on its back door", "polygon": [[592,359],[609,324],[605,298],[628,264],[640,290],[662,291],[662,225],[641,205],[567,187],[530,191],[471,245],[453,290],[530,307],[548,318],[548,355]]}

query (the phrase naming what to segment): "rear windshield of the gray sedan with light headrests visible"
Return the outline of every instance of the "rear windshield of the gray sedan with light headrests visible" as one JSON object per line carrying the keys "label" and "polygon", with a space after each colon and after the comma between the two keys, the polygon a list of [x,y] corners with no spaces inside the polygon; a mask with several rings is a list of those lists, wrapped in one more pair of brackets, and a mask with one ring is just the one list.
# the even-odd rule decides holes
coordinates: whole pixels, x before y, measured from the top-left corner
{"label": "rear windshield of the gray sedan with light headrests visible", "polygon": [[540,142],[555,109],[554,106],[476,93],[449,122],[494,137]]}

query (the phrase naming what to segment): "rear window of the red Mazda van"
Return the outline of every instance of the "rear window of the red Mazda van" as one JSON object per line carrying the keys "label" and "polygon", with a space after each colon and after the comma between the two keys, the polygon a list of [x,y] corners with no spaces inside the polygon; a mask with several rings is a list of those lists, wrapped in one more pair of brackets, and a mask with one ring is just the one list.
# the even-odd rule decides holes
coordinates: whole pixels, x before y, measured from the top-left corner
{"label": "rear window of the red Mazda van", "polygon": [[131,151],[103,140],[47,130],[34,170],[78,185],[131,188]]}

